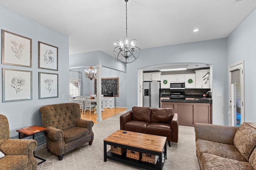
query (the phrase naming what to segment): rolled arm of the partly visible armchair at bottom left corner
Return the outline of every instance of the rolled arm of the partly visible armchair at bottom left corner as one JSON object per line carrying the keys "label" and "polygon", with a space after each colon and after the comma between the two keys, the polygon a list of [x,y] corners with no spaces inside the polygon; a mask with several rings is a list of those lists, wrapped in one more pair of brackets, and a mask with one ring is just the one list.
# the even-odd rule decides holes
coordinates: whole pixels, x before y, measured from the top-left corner
{"label": "rolled arm of the partly visible armchair at bottom left corner", "polygon": [[5,155],[28,155],[28,158],[34,158],[34,150],[37,142],[34,139],[7,139],[0,146],[0,150]]}

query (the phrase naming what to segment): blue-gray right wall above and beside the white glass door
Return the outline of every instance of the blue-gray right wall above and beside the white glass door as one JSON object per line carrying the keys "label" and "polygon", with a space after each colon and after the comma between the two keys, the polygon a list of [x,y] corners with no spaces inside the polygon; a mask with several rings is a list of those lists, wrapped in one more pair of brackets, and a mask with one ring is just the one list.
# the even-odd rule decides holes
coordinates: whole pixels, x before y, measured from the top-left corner
{"label": "blue-gray right wall above and beside the white glass door", "polygon": [[256,10],[227,38],[227,66],[244,60],[244,121],[256,122]]}

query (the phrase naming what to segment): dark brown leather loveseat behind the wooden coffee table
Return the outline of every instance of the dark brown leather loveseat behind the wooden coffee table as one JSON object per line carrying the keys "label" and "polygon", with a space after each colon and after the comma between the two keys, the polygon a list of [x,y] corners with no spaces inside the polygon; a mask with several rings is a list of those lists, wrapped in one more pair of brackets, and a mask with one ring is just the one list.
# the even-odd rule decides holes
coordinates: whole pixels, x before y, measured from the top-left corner
{"label": "dark brown leather loveseat behind the wooden coffee table", "polygon": [[120,129],[167,137],[178,143],[178,114],[172,108],[132,107],[120,116]]}

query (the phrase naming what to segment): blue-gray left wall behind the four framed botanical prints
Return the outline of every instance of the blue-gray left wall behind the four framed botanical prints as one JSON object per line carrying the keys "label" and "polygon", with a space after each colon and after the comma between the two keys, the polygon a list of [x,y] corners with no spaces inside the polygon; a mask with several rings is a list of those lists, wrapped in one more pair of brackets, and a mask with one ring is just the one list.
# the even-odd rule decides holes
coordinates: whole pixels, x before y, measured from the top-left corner
{"label": "blue-gray left wall behind the four framed botanical prints", "polygon": [[[66,76],[68,75],[69,60],[68,37],[2,6],[0,6],[0,23],[1,29],[32,39],[32,68],[0,64],[1,70],[2,68],[12,68],[32,71],[32,100],[0,102],[0,114],[6,115],[9,121],[10,137],[18,138],[16,129],[42,125],[41,113],[38,110],[41,106],[69,101],[68,76]],[[58,71],[38,69],[38,41],[58,47]],[[38,99],[38,72],[59,74],[58,98]],[[0,89],[2,89],[2,83]],[[2,90],[0,93],[2,94]],[[61,98],[62,95],[64,95],[64,99]]]}

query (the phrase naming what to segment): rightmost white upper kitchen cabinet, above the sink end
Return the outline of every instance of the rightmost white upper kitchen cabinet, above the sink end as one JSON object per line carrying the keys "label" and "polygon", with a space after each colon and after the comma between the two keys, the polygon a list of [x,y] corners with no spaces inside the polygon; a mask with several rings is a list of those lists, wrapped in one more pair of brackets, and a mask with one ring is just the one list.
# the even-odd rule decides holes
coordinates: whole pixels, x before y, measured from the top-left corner
{"label": "rightmost white upper kitchen cabinet, above the sink end", "polygon": [[196,88],[210,88],[210,73],[208,69],[196,70]]}

